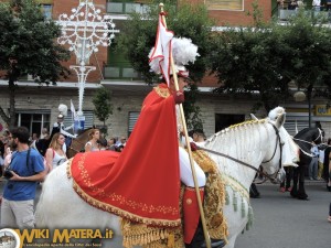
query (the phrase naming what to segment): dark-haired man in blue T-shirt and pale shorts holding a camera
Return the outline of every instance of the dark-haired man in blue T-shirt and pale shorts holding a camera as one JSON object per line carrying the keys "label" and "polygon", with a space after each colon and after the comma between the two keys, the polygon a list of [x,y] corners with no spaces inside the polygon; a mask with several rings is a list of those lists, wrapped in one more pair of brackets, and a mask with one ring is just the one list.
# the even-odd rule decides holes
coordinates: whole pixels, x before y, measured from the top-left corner
{"label": "dark-haired man in blue T-shirt and pale shorts holding a camera", "polygon": [[18,127],[11,131],[13,147],[10,176],[3,188],[1,227],[34,228],[34,198],[38,182],[45,177],[43,158],[29,148],[29,130]]}

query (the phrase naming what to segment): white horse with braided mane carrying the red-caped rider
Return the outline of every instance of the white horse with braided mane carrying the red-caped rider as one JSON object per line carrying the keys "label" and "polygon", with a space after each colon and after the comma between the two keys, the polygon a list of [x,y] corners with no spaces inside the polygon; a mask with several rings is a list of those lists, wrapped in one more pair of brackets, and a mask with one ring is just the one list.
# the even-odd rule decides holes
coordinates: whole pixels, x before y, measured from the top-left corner
{"label": "white horse with braided mane carrying the red-caped rider", "polygon": [[[265,172],[275,174],[276,177],[281,166],[282,141],[278,130],[284,121],[284,115],[276,121],[246,121],[215,133],[204,145],[205,149],[218,152],[210,155],[217,163],[226,184],[227,204],[223,208],[229,231],[226,248],[234,247],[236,237],[247,228],[248,220],[252,219],[248,191],[256,170],[263,165]],[[52,171],[43,184],[36,206],[36,227],[111,228],[116,239],[110,240],[111,245],[108,247],[122,247],[119,218],[83,201],[73,190],[72,179],[67,179],[66,165],[64,163]]]}

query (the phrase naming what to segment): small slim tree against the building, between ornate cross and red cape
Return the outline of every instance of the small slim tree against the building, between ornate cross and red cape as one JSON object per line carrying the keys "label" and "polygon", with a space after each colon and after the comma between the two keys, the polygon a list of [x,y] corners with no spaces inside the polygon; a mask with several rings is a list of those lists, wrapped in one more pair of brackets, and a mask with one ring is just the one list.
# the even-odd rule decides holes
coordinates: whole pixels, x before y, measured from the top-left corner
{"label": "small slim tree against the building, between ornate cross and red cape", "polygon": [[94,114],[104,122],[103,132],[107,134],[106,120],[113,114],[111,93],[105,87],[99,87],[93,97]]}

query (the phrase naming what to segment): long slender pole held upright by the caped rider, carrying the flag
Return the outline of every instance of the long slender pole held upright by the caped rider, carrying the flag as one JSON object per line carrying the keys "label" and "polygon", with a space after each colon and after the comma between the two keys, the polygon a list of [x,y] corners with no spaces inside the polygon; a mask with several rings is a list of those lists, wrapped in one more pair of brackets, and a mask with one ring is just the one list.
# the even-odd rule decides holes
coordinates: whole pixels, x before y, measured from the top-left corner
{"label": "long slender pole held upright by the caped rider, carrying the flag", "polygon": [[[160,7],[160,11],[163,12],[163,3],[160,3],[159,7]],[[162,20],[163,20],[164,26],[167,29],[167,21],[166,21],[164,14],[162,14]],[[172,76],[173,76],[173,80],[174,80],[174,88],[175,88],[175,90],[179,90],[178,76],[177,76],[177,72],[175,72],[175,65],[174,65],[174,62],[173,62],[172,51],[170,52],[170,66],[171,66],[171,69],[172,69]],[[190,158],[190,165],[191,165],[192,176],[193,176],[193,181],[194,181],[194,188],[195,188],[196,198],[197,198],[197,205],[199,205],[199,211],[200,211],[200,216],[201,216],[201,224],[202,224],[202,228],[203,228],[203,235],[204,235],[206,247],[211,248],[211,240],[210,240],[210,236],[209,236],[207,229],[206,229],[204,212],[203,212],[203,207],[202,207],[202,201],[201,201],[201,195],[200,195],[200,191],[199,191],[199,185],[197,185],[193,158],[192,158],[192,151],[191,151],[191,145],[190,145],[190,139],[189,139],[189,133],[188,133],[188,127],[186,127],[183,105],[180,104],[179,107],[180,107],[180,116],[181,116],[181,120],[182,120],[183,129],[184,129],[183,131],[184,131],[184,134],[185,134],[185,141],[186,141],[188,153],[189,153],[189,158]]]}

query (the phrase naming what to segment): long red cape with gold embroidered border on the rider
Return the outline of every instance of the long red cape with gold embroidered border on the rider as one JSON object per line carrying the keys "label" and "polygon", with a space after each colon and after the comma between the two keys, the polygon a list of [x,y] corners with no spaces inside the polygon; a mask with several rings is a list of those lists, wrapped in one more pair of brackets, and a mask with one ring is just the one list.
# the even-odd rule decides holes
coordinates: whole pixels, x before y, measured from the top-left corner
{"label": "long red cape with gold embroidered border on the rider", "polygon": [[96,207],[138,223],[179,226],[178,129],[167,85],[146,97],[121,153],[77,154],[71,174],[76,192]]}

